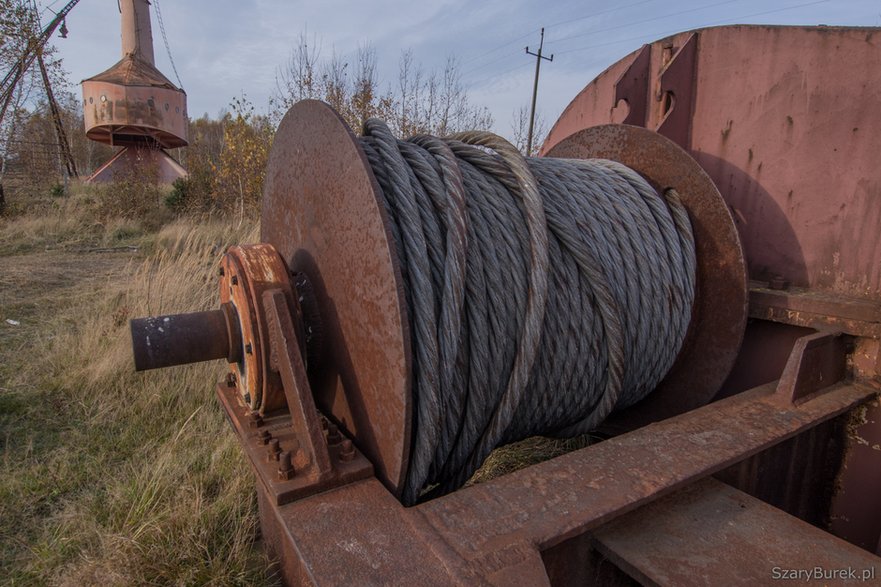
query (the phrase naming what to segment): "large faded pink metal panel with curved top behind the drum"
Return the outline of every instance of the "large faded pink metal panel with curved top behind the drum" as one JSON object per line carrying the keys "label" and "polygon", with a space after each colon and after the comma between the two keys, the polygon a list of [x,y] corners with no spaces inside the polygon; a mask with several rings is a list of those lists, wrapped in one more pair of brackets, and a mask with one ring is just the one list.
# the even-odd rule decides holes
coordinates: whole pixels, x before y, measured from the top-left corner
{"label": "large faded pink metal panel with curved top behind the drum", "polygon": [[[662,72],[690,34],[651,44],[648,128],[664,116]],[[783,275],[793,285],[881,297],[879,41],[877,28],[698,32],[685,146],[731,205],[753,279]],[[635,55],[572,101],[545,151],[613,120],[617,76],[609,73]]]}

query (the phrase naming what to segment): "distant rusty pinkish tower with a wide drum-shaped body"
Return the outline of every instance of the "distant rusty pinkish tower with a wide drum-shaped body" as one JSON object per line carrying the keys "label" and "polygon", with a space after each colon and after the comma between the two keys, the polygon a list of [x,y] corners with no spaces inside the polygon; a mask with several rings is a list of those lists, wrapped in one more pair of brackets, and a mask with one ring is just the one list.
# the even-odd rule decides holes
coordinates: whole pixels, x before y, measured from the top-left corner
{"label": "distant rusty pinkish tower with a wide drum-shaped body", "polygon": [[124,147],[89,181],[112,181],[117,174],[152,165],[171,183],[187,172],[165,149],[185,147],[187,95],[156,69],[149,0],[120,0],[122,59],[83,80],[86,136]]}

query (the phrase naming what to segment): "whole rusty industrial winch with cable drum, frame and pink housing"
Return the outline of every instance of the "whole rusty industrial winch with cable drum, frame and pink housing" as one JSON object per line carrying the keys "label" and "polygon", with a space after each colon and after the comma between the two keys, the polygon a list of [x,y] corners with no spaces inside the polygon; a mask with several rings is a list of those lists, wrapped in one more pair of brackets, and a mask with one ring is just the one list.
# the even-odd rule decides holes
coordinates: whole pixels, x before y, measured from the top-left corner
{"label": "whole rusty industrial winch with cable drum, frame and pink housing", "polygon": [[[801,91],[789,75],[827,36],[881,62],[861,35],[720,27],[645,45],[536,159],[486,133],[402,141],[370,121],[356,136],[301,102],[276,134],[261,242],[218,268],[220,309],[134,320],[136,368],[229,363],[217,394],[290,583],[755,584],[774,561],[806,564],[805,537],[824,545],[814,566],[881,573],[877,518],[833,528],[863,549],[806,523],[879,485],[841,463],[849,433],[879,434],[881,274],[865,268],[881,250],[848,244],[862,219],[845,209],[881,211],[881,180],[854,184],[865,199],[796,164],[782,147],[826,114],[775,97]],[[744,47],[780,37],[801,51]],[[789,73],[732,88],[741,63]],[[878,144],[877,117],[839,114],[836,149]],[[762,134],[775,116],[784,134]],[[826,194],[836,230],[814,244],[793,202],[822,210]],[[874,427],[857,433],[864,404]],[[586,432],[605,440],[456,491],[497,446]],[[878,495],[860,507],[881,512]]]}

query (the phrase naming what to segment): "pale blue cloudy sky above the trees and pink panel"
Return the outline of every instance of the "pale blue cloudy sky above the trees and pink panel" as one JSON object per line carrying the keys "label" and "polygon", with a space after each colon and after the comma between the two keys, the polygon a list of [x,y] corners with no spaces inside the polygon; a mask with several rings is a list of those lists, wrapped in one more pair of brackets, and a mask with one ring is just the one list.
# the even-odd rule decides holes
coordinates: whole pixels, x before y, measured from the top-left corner
{"label": "pale blue cloudy sky above the trees and pink panel", "polygon": [[[541,27],[545,53],[554,55],[542,64],[539,88],[539,111],[550,124],[607,66],[674,32],[735,23],[881,26],[878,0],[152,1],[157,66],[175,80],[158,4],[192,117],[217,116],[242,93],[265,111],[278,67],[307,31],[322,56],[350,56],[359,45],[373,45],[385,84],[394,80],[404,49],[428,70],[455,56],[471,101],[490,109],[501,134],[510,134],[513,112],[529,103],[535,60],[524,48],[537,47]],[[42,6],[57,10],[65,3],[43,0]],[[46,12],[44,22],[51,17]],[[55,45],[74,83],[119,58],[115,0],[81,0],[67,26],[69,37]]]}

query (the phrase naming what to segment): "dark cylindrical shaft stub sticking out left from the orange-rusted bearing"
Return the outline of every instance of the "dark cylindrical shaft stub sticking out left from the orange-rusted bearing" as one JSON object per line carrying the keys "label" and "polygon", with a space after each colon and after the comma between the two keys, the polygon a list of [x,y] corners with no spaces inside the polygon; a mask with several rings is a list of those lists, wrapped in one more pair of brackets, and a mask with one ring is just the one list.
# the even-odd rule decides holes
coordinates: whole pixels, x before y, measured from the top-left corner
{"label": "dark cylindrical shaft stub sticking out left from the orange-rusted bearing", "polygon": [[220,309],[132,320],[135,370],[237,360],[233,355],[241,354],[241,335],[234,314],[235,309]]}

